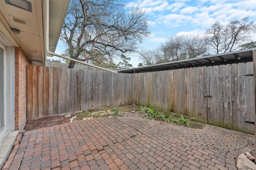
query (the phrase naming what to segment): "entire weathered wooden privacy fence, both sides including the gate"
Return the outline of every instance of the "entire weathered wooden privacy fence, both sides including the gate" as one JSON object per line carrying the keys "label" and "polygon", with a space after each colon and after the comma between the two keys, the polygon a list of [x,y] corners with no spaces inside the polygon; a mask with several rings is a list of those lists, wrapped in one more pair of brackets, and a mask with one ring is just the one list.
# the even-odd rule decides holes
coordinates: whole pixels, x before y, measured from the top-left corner
{"label": "entire weathered wooden privacy fence, both sides including the gate", "polygon": [[27,66],[27,118],[120,106],[134,100],[254,134],[252,62],[123,74]]}

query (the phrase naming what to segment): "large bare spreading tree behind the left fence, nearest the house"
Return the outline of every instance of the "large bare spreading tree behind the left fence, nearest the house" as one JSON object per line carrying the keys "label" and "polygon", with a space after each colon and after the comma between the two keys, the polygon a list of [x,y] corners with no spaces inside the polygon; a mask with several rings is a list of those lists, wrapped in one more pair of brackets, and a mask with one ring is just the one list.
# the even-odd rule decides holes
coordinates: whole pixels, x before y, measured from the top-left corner
{"label": "large bare spreading tree behind the left fence, nearest the house", "polygon": [[135,51],[149,34],[145,12],[138,7],[126,9],[119,0],[71,0],[61,35],[70,58],[89,63],[97,60],[95,50],[109,58]]}

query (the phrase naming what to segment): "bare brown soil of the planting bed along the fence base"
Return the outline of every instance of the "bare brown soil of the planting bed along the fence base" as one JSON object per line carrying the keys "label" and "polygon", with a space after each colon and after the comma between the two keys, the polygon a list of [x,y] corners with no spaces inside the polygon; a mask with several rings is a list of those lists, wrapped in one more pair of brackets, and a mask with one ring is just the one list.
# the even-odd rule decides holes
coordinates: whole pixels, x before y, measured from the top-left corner
{"label": "bare brown soil of the planting bed along the fence base", "polygon": [[[140,106],[138,106],[138,105],[135,105],[135,107],[133,105],[120,106],[120,116],[142,118],[142,117],[144,117],[144,113],[140,113],[139,111],[134,112],[134,110],[139,109],[139,107]],[[114,107],[105,107],[102,109],[98,109],[97,111],[107,111],[107,110],[112,111],[113,108]],[[49,127],[49,126],[69,123],[70,118],[72,118],[74,116],[76,116],[77,118],[74,118],[73,121],[78,121],[78,120],[82,120],[83,117],[91,116],[92,113],[93,113],[93,111],[92,112],[91,111],[83,111],[82,113],[73,114],[70,117],[65,117],[64,115],[60,115],[60,116],[47,116],[47,117],[42,117],[42,118],[38,118],[38,119],[30,119],[30,120],[26,121],[24,130],[30,131],[30,130],[34,130],[34,129],[40,129],[43,127]],[[94,115],[93,117],[94,117],[94,119],[97,119],[98,117],[108,117],[108,116],[109,115],[104,115],[104,116]],[[158,121],[163,121],[163,120],[158,119]],[[184,124],[173,123],[173,122],[170,122],[170,123],[186,127],[186,125],[184,125]],[[198,123],[198,122],[194,122],[194,121],[190,121],[189,125],[191,128],[194,128],[194,129],[202,129],[206,126],[206,124]]]}

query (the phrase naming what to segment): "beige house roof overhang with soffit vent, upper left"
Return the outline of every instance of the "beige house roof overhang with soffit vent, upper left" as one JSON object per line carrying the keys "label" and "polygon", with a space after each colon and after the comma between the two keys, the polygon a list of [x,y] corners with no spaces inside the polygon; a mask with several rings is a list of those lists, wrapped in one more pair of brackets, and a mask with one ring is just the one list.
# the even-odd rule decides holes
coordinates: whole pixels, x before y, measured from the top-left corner
{"label": "beige house roof overhang with soffit vent, upper left", "polygon": [[[46,0],[26,1],[31,2],[31,12],[0,0],[0,37],[6,46],[20,46],[32,64],[45,65]],[[69,2],[49,0],[49,49],[52,52],[56,49]]]}

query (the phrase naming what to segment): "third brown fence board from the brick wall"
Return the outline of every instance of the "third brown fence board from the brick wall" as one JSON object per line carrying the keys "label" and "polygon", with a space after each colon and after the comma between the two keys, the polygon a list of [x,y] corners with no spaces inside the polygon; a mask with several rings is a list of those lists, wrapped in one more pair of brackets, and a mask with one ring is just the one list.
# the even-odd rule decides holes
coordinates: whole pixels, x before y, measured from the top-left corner
{"label": "third brown fence board from the brick wall", "polygon": [[44,67],[38,67],[38,117],[44,116]]}

